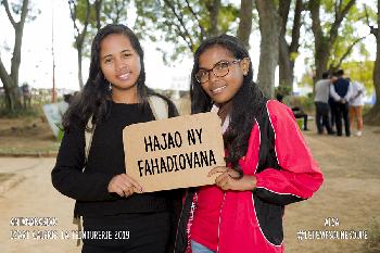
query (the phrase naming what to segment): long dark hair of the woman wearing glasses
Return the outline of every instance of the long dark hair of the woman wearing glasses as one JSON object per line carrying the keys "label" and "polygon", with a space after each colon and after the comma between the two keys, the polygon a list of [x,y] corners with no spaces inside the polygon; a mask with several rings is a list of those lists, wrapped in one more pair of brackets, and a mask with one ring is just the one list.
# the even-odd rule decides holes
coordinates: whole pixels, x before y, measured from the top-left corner
{"label": "long dark hair of the woman wearing glasses", "polygon": [[[191,113],[208,112],[213,101],[202,89],[201,84],[195,79],[199,71],[200,55],[211,47],[219,46],[228,50],[236,59],[250,58],[244,46],[233,36],[220,35],[206,39],[201,43],[194,53],[194,65],[191,72],[190,98]],[[259,115],[265,105],[266,99],[257,85],[253,81],[252,63],[250,62],[249,72],[243,77],[243,84],[239,91],[232,98],[232,109],[230,112],[230,124],[224,135],[225,148],[228,151],[226,162],[242,175],[239,166],[239,160],[245,155],[250,134],[255,123],[255,117]]]}

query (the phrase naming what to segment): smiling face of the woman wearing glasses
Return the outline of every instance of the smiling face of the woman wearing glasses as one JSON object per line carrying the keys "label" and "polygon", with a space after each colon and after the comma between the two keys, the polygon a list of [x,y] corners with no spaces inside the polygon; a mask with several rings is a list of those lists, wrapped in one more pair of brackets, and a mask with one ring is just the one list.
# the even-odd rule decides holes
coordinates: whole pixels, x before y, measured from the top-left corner
{"label": "smiling face of the woman wearing glasses", "polygon": [[[243,84],[243,77],[249,71],[249,59],[236,59],[230,51],[213,46],[201,53],[199,58],[199,69],[210,71],[228,62],[228,74],[217,77],[208,72],[208,81],[201,84],[203,90],[216,104],[224,104],[230,101]],[[237,62],[238,61],[238,62]]]}

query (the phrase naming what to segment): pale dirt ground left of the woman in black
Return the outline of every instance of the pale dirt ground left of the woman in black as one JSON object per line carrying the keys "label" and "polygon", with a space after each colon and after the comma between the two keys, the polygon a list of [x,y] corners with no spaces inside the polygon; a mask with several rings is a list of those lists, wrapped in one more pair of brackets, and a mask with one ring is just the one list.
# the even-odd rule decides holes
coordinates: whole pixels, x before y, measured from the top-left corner
{"label": "pale dirt ground left of the woman in black", "polygon": [[[0,173],[16,173],[24,180],[0,195],[0,252],[14,253],[75,253],[76,240],[37,240],[36,230],[72,230],[74,202],[61,195],[50,182],[54,159],[0,159]],[[11,226],[13,217],[55,217],[54,227]],[[28,230],[29,239],[11,240],[12,230]],[[61,236],[61,233],[59,233]]]}

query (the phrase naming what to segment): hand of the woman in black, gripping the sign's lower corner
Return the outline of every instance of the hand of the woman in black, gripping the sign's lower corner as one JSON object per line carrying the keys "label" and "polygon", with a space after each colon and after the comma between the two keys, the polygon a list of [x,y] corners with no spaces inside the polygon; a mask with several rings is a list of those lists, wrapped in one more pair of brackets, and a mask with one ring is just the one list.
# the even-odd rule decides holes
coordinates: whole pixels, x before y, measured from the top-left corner
{"label": "hand of the woman in black, gripping the sign's lower corner", "polygon": [[143,192],[142,187],[127,174],[114,176],[107,187],[109,192],[115,192],[121,197],[129,197],[131,194]]}

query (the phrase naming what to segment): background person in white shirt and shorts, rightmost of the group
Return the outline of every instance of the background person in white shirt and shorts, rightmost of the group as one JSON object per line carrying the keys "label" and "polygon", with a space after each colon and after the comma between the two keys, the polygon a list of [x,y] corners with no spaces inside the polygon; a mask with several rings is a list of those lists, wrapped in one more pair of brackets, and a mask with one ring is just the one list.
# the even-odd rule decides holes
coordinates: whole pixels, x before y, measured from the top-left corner
{"label": "background person in white shirt and shorts, rightmost of the group", "polygon": [[354,128],[354,123],[356,121],[356,136],[362,136],[363,132],[363,106],[364,106],[364,96],[366,89],[364,86],[357,81],[351,81],[352,96],[349,100],[350,103],[350,126]]}

